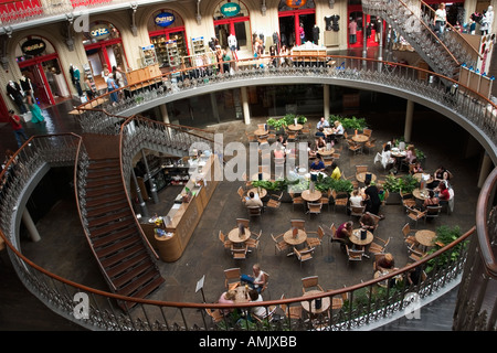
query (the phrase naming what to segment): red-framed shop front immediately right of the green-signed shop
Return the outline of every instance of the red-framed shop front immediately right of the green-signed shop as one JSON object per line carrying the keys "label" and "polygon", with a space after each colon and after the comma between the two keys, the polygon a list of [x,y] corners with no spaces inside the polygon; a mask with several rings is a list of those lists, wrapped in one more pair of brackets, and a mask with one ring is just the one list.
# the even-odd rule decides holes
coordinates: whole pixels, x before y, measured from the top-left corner
{"label": "red-framed shop front immediately right of the green-signed shop", "polygon": [[281,0],[278,18],[281,45],[293,47],[314,41],[316,8],[313,0]]}

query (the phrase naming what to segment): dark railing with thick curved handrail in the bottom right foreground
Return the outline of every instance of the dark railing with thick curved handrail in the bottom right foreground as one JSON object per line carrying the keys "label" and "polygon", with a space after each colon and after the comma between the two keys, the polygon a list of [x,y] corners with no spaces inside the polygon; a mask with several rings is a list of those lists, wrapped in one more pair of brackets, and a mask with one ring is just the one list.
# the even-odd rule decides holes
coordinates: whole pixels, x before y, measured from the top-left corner
{"label": "dark railing with thick curved handrail in the bottom right foreground", "polygon": [[476,233],[454,313],[454,330],[497,330],[497,168],[482,188],[476,207]]}

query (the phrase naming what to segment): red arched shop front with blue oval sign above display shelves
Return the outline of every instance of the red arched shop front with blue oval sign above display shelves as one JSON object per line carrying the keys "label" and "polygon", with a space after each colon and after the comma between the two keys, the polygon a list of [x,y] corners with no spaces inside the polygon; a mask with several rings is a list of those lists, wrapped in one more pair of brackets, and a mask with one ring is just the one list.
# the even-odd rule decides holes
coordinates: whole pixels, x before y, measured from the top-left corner
{"label": "red arched shop front with blue oval sign above display shelves", "polygon": [[172,10],[159,10],[150,17],[147,29],[160,68],[162,71],[179,68],[182,61],[190,55],[181,15]]}

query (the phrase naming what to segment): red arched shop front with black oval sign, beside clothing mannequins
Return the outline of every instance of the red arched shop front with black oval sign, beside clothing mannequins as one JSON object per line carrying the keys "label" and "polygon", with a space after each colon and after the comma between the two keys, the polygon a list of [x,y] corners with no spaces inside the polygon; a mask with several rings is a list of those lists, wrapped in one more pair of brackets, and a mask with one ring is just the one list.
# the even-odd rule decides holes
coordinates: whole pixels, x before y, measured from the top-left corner
{"label": "red arched shop front with black oval sign, beside clothing mannequins", "polygon": [[21,40],[15,50],[15,61],[21,69],[19,85],[30,87],[42,107],[71,97],[59,54],[46,39],[30,35]]}

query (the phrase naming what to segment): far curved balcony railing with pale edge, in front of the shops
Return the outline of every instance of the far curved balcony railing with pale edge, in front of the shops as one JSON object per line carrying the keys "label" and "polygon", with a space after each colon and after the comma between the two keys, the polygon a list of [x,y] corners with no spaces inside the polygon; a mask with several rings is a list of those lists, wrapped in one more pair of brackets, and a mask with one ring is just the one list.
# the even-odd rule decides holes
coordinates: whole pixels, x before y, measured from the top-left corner
{"label": "far curved balcony railing with pale edge, in front of the shops", "polygon": [[[479,129],[475,135],[486,137],[483,145],[491,150],[493,159],[497,154],[497,106],[470,87],[436,73],[399,63],[340,55],[264,56],[228,64],[234,68],[231,73],[221,73],[219,64],[175,71],[119,88],[126,98],[118,103],[113,104],[109,93],[105,93],[77,109],[92,111],[98,108],[110,115],[134,115],[188,95],[275,82],[300,83],[305,77],[317,84],[353,83],[356,87],[404,94],[408,99],[417,98],[421,104],[430,105],[435,110],[440,108],[445,115],[452,113],[457,122],[465,127],[467,124],[474,125]],[[92,118],[86,125],[93,131],[108,129],[105,119]]]}

